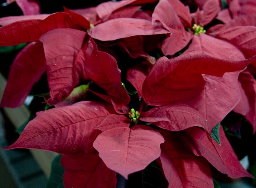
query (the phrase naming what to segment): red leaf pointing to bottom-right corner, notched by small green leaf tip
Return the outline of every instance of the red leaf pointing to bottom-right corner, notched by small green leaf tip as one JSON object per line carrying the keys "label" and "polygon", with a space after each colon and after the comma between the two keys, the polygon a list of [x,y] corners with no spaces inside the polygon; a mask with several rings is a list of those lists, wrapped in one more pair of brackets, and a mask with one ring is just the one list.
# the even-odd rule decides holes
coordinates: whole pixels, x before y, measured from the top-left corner
{"label": "red leaf pointing to bottom-right corner, notched by small green leaf tip", "polygon": [[204,156],[221,173],[231,178],[252,177],[242,167],[222,127],[219,129],[221,146],[213,139],[210,141],[207,134],[198,127],[186,129],[178,136],[195,155]]}

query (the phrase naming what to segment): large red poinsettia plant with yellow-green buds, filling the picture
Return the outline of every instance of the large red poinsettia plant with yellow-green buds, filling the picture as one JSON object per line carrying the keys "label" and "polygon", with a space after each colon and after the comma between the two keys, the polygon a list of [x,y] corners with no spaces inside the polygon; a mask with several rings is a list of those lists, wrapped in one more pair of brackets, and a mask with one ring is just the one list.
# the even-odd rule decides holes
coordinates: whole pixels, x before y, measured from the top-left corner
{"label": "large red poinsettia plant with yellow-green buds, filling the picture", "polygon": [[6,149],[60,153],[67,188],[213,188],[217,171],[253,178],[229,142],[245,123],[256,130],[252,5],[121,0],[0,18],[1,46],[27,43],[0,107],[31,94],[46,106]]}

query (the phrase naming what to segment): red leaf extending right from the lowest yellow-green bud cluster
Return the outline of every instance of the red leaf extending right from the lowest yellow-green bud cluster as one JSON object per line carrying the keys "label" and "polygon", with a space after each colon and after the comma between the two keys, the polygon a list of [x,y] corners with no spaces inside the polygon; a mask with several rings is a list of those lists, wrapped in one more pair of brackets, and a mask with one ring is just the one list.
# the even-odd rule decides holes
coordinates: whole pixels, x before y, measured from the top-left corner
{"label": "red leaf extending right from the lowest yellow-green bud cluster", "polygon": [[188,127],[206,127],[206,121],[197,110],[186,104],[170,104],[154,107],[141,113],[140,120],[153,123],[171,131],[184,130]]}

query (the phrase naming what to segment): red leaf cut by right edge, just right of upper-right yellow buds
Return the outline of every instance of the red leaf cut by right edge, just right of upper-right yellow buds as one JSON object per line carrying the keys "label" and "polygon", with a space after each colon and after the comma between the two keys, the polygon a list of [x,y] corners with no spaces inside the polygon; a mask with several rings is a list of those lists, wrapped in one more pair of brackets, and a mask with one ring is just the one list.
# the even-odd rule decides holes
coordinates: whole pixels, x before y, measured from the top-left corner
{"label": "red leaf cut by right edge, just right of upper-right yellow buds", "polygon": [[255,26],[236,26],[226,28],[215,38],[226,40],[237,46],[247,58],[256,55],[256,27]]}

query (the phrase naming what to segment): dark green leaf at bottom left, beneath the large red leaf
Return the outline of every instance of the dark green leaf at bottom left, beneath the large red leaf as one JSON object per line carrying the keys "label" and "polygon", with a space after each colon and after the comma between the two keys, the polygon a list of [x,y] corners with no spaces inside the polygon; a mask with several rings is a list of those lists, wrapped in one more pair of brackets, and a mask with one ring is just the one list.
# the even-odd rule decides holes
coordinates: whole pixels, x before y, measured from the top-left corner
{"label": "dark green leaf at bottom left, beneath the large red leaf", "polygon": [[64,168],[61,165],[61,156],[58,155],[52,161],[51,174],[47,180],[46,188],[64,188],[63,174]]}

